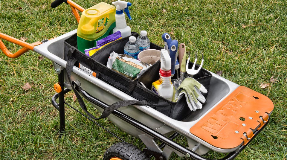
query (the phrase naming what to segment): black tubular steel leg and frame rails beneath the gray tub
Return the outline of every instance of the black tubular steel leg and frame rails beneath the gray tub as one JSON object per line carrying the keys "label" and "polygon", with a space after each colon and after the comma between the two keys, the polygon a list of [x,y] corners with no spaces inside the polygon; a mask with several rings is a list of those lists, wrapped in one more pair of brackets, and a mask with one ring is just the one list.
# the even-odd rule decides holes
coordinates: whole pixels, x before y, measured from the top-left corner
{"label": "black tubular steel leg and frame rails beneath the gray tub", "polygon": [[[62,133],[65,131],[65,104],[69,107],[71,107],[72,109],[74,109],[75,111],[79,112],[81,115],[83,115],[85,118],[91,120],[92,122],[94,122],[95,124],[97,124],[99,127],[105,129],[107,132],[109,132],[110,134],[114,135],[115,137],[117,137],[118,139],[120,139],[121,141],[124,141],[123,139],[121,139],[120,137],[118,137],[117,135],[115,135],[114,133],[110,132],[108,129],[106,129],[105,127],[101,126],[100,124],[98,124],[96,121],[94,121],[94,119],[91,119],[90,117],[88,117],[87,115],[85,115],[83,112],[80,112],[79,110],[77,110],[76,108],[74,108],[73,106],[69,105],[68,103],[65,102],[64,99],[64,95],[65,93],[70,92],[71,90],[69,89],[64,89],[64,72],[63,70],[60,71],[58,73],[58,83],[62,88],[62,92],[60,93],[56,93],[53,97],[52,97],[52,104],[53,106],[59,111],[59,121],[60,121],[60,135],[62,135]],[[97,98],[89,95],[86,91],[84,91],[80,86],[77,85],[77,83],[73,83],[75,86],[75,89],[88,101],[90,101],[91,103],[94,103],[97,106],[100,106],[101,108],[105,109],[107,108],[109,105],[107,105],[106,103],[98,100]],[[59,98],[59,103],[57,103],[57,98]],[[173,149],[183,153],[184,155],[186,155],[187,157],[190,157],[191,159],[196,159],[196,160],[210,160],[207,159],[203,156],[198,155],[197,153],[193,152],[192,150],[178,144],[177,142],[173,141],[172,139],[174,139],[178,134],[175,133],[174,135],[172,135],[171,137],[166,137],[164,135],[162,135],[161,133],[156,132],[155,130],[149,128],[148,126],[142,124],[141,122],[129,117],[128,115],[115,110],[112,112],[112,114],[114,114],[115,116],[117,116],[118,118],[126,121],[127,123],[131,124],[132,126],[144,131],[145,133],[151,135],[152,137],[161,140],[162,144],[159,145],[161,148],[163,148],[165,145],[168,145],[170,147],[172,147]],[[268,121],[269,122],[269,121]],[[267,122],[267,123],[268,123]],[[267,124],[265,124],[266,126]],[[254,133],[254,136],[252,139],[254,139],[256,137],[256,135],[265,127],[263,126],[260,130],[256,131]],[[125,142],[125,141],[124,141]],[[248,144],[251,142],[251,140],[248,142]],[[239,147],[238,150],[233,151],[231,153],[229,153],[228,155],[226,155],[224,158],[222,159],[218,159],[218,160],[231,160],[234,159],[248,144]],[[145,152],[148,152],[149,149],[145,149]],[[152,151],[150,151],[149,153],[153,153]],[[158,153],[161,154],[161,153]],[[162,154],[161,154],[162,155]],[[151,155],[149,155],[151,156]],[[155,156],[155,155],[152,155]],[[160,160],[164,160],[166,159],[163,155],[162,156],[155,156],[156,159],[160,159]],[[160,157],[160,158],[158,158]]]}

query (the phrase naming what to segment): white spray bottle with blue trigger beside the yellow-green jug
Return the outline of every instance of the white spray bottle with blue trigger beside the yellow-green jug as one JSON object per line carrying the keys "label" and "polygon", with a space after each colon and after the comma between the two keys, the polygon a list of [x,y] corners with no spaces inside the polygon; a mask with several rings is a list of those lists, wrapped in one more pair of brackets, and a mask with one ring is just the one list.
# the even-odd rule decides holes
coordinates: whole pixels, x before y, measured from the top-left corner
{"label": "white spray bottle with blue trigger beside the yellow-green jug", "polygon": [[132,20],[129,14],[129,7],[132,6],[132,3],[118,0],[112,2],[112,4],[116,6],[116,27],[113,29],[113,33],[120,31],[122,38],[132,35],[131,28],[126,25],[125,13],[123,13],[123,11],[125,11],[129,19]]}

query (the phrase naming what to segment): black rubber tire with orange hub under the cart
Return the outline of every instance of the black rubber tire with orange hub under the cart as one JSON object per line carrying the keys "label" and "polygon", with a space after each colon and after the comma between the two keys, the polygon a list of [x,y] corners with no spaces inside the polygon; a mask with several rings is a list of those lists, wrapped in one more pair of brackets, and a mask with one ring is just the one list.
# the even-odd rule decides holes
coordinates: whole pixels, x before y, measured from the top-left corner
{"label": "black rubber tire with orange hub under the cart", "polygon": [[103,160],[149,160],[137,147],[126,142],[113,144],[104,153]]}

